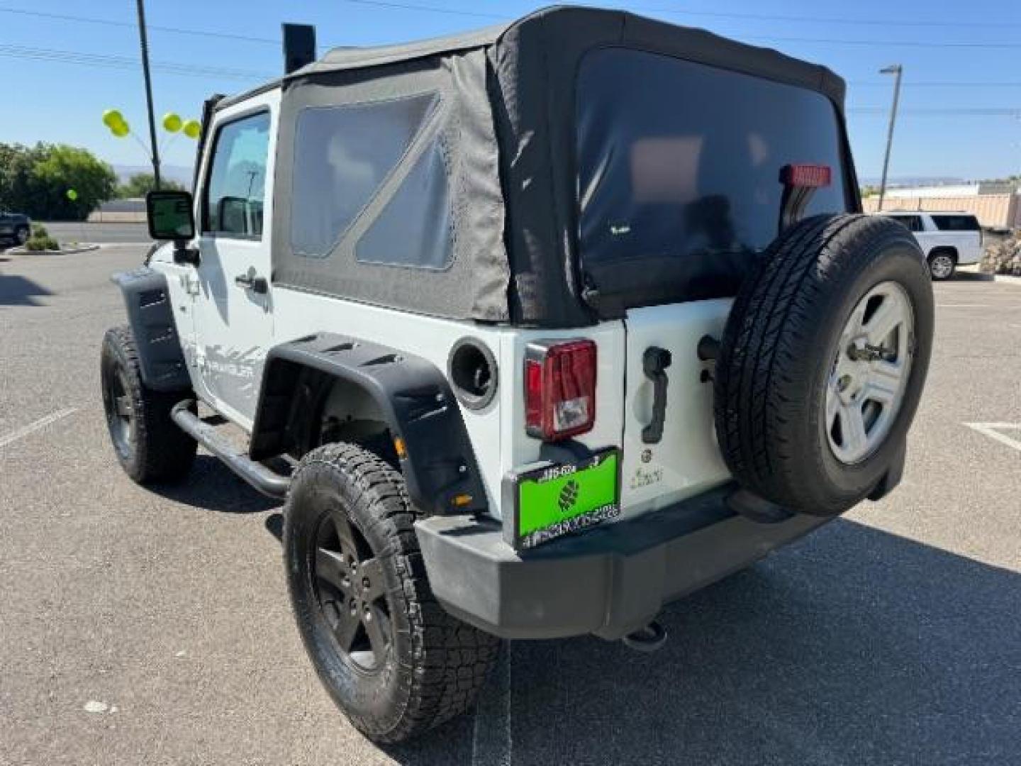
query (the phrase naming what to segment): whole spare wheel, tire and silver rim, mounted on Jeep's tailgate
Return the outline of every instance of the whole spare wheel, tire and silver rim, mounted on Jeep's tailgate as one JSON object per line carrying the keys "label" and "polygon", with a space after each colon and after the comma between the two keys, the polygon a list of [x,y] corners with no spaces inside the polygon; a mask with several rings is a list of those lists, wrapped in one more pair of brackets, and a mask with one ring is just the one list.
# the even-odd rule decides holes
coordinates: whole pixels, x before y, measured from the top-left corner
{"label": "whole spare wheel, tire and silver rim, mounted on Jeep's tailgate", "polygon": [[817,216],[742,284],[721,341],[717,438],[746,489],[843,513],[896,470],[932,351],[932,284],[901,224]]}

